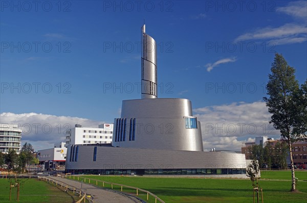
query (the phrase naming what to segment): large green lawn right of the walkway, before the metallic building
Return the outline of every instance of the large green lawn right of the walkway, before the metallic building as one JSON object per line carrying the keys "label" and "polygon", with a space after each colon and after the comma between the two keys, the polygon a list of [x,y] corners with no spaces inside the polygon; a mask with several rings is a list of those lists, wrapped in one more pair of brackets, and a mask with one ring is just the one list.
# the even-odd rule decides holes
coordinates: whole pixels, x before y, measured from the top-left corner
{"label": "large green lawn right of the walkway, before the metallic building", "polygon": [[[273,172],[269,174],[266,171],[266,174],[262,176],[262,178],[271,178],[271,180],[259,181],[259,186],[262,187],[264,192],[264,202],[294,203],[307,201],[307,182],[298,182],[297,188],[300,192],[292,193],[289,192],[291,181],[273,180],[291,179],[289,171]],[[290,178],[287,177],[289,174]],[[298,171],[296,174],[300,180],[303,180],[306,172]],[[97,175],[83,175],[82,177],[142,188],[156,194],[165,202],[252,202],[253,199],[250,180]],[[71,176],[72,178],[73,176]],[[81,180],[81,177],[79,179]],[[86,183],[89,183],[88,180],[86,180]],[[96,185],[96,182],[93,183],[92,181],[91,184]],[[100,185],[102,184],[100,183]],[[109,185],[105,186],[111,188]],[[120,190],[120,187],[114,186],[114,189]],[[125,188],[124,192],[135,193],[134,190]],[[139,197],[146,199],[146,195],[142,193]],[[149,202],[154,201],[151,198]]]}

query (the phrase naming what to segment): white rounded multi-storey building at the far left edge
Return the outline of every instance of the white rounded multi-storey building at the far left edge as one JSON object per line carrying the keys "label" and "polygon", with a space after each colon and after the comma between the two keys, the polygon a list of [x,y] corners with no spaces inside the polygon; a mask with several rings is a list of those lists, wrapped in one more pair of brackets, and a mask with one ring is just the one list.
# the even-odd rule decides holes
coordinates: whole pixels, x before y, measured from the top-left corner
{"label": "white rounded multi-storey building at the far left edge", "polygon": [[17,153],[21,148],[21,129],[15,124],[0,124],[0,151],[8,153],[9,149],[15,149]]}

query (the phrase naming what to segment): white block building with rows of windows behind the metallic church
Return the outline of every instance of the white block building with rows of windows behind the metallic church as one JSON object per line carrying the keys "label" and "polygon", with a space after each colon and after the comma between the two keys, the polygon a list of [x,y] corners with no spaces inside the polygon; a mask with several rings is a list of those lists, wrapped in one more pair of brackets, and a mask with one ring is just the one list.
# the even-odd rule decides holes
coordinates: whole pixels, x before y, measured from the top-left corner
{"label": "white block building with rows of windows behind the metallic church", "polygon": [[65,147],[71,144],[109,144],[112,136],[113,124],[100,124],[98,128],[82,128],[76,124],[75,128],[66,131]]}

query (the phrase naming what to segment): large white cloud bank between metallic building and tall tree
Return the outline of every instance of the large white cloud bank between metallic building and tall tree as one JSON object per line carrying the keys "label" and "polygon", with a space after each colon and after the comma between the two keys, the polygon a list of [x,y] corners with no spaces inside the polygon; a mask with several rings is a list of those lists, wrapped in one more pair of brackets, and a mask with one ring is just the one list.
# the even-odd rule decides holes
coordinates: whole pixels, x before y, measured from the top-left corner
{"label": "large white cloud bank between metallic building and tall tree", "polygon": [[264,102],[232,103],[193,110],[201,122],[204,150],[240,150],[242,142],[257,136],[279,138],[269,123],[271,114]]}

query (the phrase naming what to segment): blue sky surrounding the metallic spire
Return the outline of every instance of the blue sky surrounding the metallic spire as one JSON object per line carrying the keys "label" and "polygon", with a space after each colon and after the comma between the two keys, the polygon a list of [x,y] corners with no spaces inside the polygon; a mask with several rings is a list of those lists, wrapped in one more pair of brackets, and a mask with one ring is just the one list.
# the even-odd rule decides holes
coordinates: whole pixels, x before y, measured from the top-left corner
{"label": "blue sky surrounding the metallic spire", "polygon": [[[267,125],[270,116],[259,112],[266,112],[262,97],[275,52],[295,67],[300,84],[307,77],[305,1],[1,1],[0,6],[1,122],[113,122],[123,99],[141,97],[144,19],[158,44],[158,97],[192,101],[204,122],[205,148],[238,149],[244,140],[267,135],[218,136],[204,128],[208,122],[259,118],[257,126]],[[29,134],[25,140],[40,146],[39,137]],[[52,136],[45,137],[52,145]]]}

